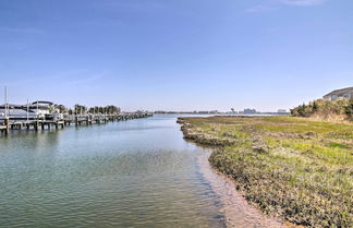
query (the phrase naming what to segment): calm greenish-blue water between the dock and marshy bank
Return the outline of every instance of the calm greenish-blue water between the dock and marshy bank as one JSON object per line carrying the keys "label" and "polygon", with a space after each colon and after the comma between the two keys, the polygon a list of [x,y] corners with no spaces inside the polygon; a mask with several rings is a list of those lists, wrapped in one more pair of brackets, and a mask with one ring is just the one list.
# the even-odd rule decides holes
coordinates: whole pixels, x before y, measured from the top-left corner
{"label": "calm greenish-blue water between the dock and marshy bank", "polygon": [[0,136],[0,227],[223,227],[175,121]]}

